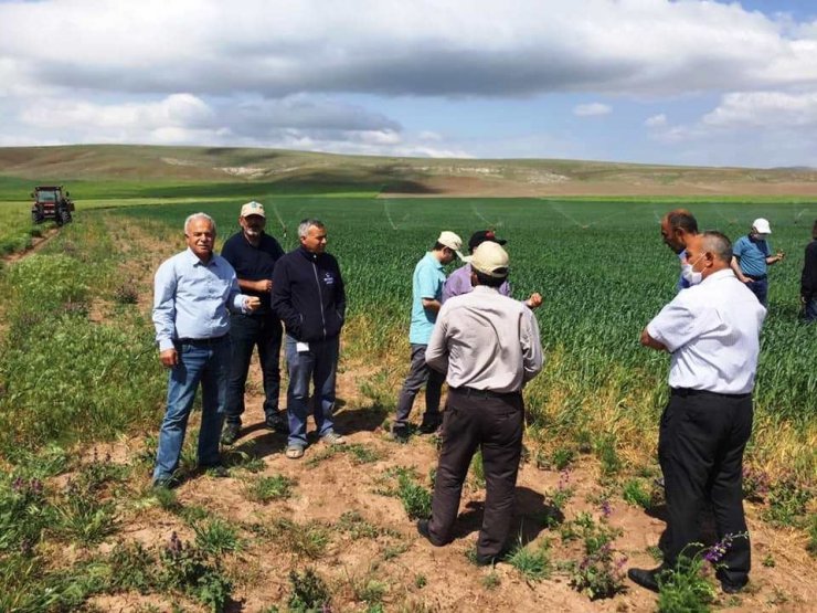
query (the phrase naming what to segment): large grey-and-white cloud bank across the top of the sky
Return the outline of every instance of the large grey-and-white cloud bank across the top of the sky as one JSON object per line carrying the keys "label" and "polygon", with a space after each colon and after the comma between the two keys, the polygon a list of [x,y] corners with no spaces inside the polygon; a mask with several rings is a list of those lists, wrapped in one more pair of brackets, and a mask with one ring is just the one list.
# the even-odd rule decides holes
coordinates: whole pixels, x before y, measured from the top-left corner
{"label": "large grey-and-white cloud bank across the top of the sky", "polygon": [[0,87],[655,95],[817,82],[811,29],[738,3],[68,0],[0,3],[0,23],[13,77]]}

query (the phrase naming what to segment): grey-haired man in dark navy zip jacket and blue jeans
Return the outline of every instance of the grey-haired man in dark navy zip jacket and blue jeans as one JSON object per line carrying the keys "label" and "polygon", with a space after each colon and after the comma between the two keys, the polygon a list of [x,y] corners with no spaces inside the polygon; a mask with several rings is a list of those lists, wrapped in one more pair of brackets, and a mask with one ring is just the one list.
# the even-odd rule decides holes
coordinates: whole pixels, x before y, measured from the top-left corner
{"label": "grey-haired man in dark navy zip jacket and blue jeans", "polygon": [[309,381],[314,381],[312,415],[320,438],[343,444],[335,432],[335,374],[340,329],[346,316],[346,292],[338,261],[326,253],[326,226],[316,219],[298,225],[300,246],[275,264],[272,306],[286,327],[285,352],[289,372],[286,456],[304,456],[307,445]]}

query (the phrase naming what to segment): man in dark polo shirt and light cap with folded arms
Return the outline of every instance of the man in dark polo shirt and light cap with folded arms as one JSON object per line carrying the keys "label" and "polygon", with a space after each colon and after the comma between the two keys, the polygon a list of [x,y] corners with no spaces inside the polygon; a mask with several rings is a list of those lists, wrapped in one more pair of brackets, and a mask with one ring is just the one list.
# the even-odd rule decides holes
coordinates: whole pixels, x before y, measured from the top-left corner
{"label": "man in dark polo shirt and light cap with folded arms", "polygon": [[264,232],[266,216],[264,205],[247,202],[238,216],[241,232],[227,239],[221,251],[222,257],[235,268],[238,286],[248,296],[257,296],[261,307],[254,313],[234,313],[230,320],[230,340],[233,359],[230,366],[225,424],[221,442],[235,443],[241,432],[241,415],[244,413],[244,387],[247,382],[253,348],[258,348],[262,378],[264,381],[264,414],[266,426],[286,433],[287,421],[278,412],[280,391],[279,355],[282,327],[273,314],[269,296],[273,290],[273,269],[284,255],[278,241]]}

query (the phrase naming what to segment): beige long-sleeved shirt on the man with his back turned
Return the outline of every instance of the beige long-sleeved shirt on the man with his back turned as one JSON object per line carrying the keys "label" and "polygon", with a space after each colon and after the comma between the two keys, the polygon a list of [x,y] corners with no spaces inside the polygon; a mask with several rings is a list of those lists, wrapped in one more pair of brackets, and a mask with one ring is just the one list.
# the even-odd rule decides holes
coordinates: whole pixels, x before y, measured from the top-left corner
{"label": "beige long-sleeved shirt on the man with his back turned", "polygon": [[542,370],[539,324],[522,303],[478,285],[445,302],[425,359],[452,388],[518,392]]}

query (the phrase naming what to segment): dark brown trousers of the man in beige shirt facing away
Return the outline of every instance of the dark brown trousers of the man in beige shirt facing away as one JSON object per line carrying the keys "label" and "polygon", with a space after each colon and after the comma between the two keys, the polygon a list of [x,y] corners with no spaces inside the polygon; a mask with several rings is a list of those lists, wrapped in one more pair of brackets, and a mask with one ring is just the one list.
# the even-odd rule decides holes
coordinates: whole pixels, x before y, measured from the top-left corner
{"label": "dark brown trousers of the man in beige shirt facing away", "polygon": [[481,448],[486,499],[477,554],[494,558],[503,551],[513,517],[523,412],[521,393],[490,397],[464,389],[448,390],[428,522],[433,542],[444,545],[450,540],[468,466],[477,448]]}

